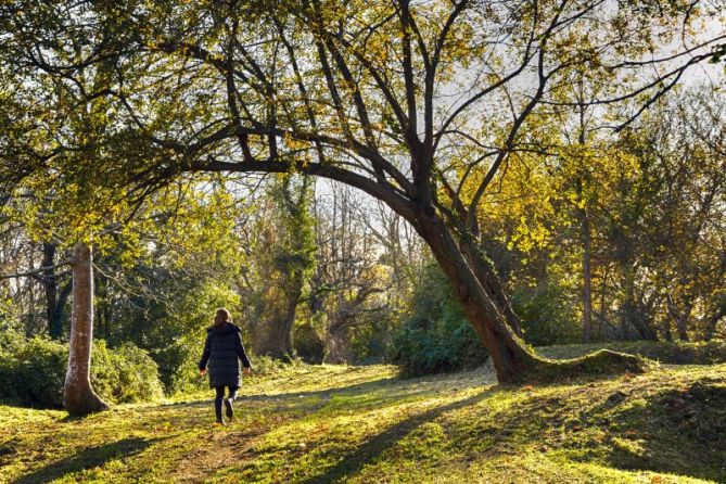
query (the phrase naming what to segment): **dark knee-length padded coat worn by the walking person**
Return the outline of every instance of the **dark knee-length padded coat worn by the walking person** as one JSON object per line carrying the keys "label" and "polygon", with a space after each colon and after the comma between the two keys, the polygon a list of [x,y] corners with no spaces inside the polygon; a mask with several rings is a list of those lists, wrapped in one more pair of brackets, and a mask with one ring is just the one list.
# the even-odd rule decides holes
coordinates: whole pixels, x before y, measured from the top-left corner
{"label": "dark knee-length padded coat worn by the walking person", "polygon": [[240,386],[240,360],[252,368],[240,329],[231,322],[208,328],[199,368],[203,370],[208,364],[209,386]]}

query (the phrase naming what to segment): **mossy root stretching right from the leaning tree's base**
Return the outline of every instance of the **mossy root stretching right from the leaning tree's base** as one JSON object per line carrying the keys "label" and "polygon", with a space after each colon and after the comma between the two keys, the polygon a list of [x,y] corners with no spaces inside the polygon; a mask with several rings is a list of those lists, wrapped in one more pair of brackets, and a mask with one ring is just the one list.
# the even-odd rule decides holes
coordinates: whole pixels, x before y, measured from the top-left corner
{"label": "mossy root stretching right from the leaning tree's base", "polygon": [[579,358],[555,360],[536,357],[534,368],[518,379],[517,383],[549,383],[578,377],[608,377],[622,373],[645,373],[655,367],[655,361],[641,356],[600,349]]}

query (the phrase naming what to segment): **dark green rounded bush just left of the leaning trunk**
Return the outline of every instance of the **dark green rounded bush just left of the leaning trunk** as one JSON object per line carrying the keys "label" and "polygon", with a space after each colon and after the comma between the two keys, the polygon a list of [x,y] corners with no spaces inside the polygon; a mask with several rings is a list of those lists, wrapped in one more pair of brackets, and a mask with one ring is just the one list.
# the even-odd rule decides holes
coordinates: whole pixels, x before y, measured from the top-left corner
{"label": "dark green rounded bush just left of the leaning trunk", "polygon": [[393,336],[391,359],[410,375],[480,365],[487,353],[437,266],[425,269],[413,315]]}

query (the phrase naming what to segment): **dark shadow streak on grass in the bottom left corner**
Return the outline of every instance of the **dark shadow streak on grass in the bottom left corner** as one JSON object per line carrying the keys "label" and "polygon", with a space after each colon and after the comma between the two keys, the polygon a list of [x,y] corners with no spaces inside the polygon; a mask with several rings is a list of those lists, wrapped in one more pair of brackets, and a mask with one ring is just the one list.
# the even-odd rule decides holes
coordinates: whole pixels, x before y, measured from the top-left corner
{"label": "dark shadow streak on grass in the bottom left corner", "polygon": [[62,459],[50,466],[38,469],[29,474],[22,475],[12,481],[12,483],[37,484],[51,482],[66,474],[103,466],[113,459],[133,456],[144,450],[154,442],[155,440],[131,437],[103,444],[99,447],[89,447],[66,459]]}

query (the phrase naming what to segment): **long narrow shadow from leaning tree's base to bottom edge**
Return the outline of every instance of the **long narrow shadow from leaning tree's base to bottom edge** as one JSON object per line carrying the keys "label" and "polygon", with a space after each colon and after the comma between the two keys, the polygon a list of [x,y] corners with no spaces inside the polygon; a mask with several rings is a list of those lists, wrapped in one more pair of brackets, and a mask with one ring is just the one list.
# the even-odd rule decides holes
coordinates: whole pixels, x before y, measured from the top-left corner
{"label": "long narrow shadow from leaning tree's base to bottom edge", "polygon": [[375,460],[377,457],[392,448],[397,442],[413,432],[418,426],[435,420],[445,412],[474,405],[486,398],[487,395],[489,395],[489,392],[483,391],[468,398],[435,407],[423,413],[418,413],[403,420],[370,437],[361,445],[344,455],[336,464],[330,467],[323,474],[315,475],[300,482],[301,484],[323,484],[343,481],[345,477],[349,477],[359,472],[366,464]]}

